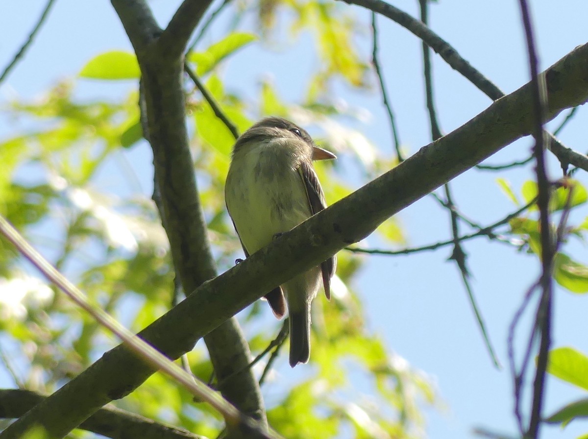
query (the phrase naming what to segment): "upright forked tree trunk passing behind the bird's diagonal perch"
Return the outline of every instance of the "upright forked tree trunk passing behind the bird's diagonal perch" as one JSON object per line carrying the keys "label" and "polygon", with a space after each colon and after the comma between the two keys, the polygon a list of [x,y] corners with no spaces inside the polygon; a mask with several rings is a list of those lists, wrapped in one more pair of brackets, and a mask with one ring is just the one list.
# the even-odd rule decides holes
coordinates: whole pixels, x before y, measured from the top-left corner
{"label": "upright forked tree trunk passing behind the bird's diagonal perch", "polygon": [[[118,3],[113,0],[117,12],[122,7]],[[133,43],[141,66],[143,129],[153,149],[155,187],[161,201],[158,207],[173,264],[186,292],[217,274],[188,144],[182,84],[183,50],[209,3],[185,0],[155,43],[146,48]],[[144,14],[143,5],[138,9],[139,15]],[[149,33],[135,27],[132,14],[119,14],[125,29]],[[152,18],[143,20],[153,21]],[[143,41],[130,34],[129,38]],[[172,52],[175,58],[170,57]],[[246,368],[251,357],[249,346],[237,320],[226,320],[206,335],[205,343],[219,381],[243,370],[220,387],[223,396],[243,413],[266,424],[258,382],[253,371]]]}

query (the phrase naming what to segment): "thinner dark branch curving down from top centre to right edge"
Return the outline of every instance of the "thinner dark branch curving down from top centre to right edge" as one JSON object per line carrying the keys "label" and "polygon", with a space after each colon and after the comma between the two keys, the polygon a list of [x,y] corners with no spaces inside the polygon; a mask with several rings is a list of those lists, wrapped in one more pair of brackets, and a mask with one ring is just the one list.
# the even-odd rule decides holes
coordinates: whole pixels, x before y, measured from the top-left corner
{"label": "thinner dark branch curving down from top centre to right edge", "polygon": [[[449,43],[442,39],[439,35],[429,29],[425,24],[413,18],[406,12],[387,4],[382,0],[343,0],[351,5],[363,6],[370,11],[377,12],[377,14],[386,16],[392,21],[396,22],[407,31],[412,32],[413,35],[422,39],[422,41],[429,46],[433,51],[437,52],[439,56],[455,69],[461,73],[468,81],[475,85],[480,91],[485,93],[492,100],[500,99],[505,96],[492,81],[486,76],[482,75],[480,71],[475,69],[466,59],[459,55]],[[574,151],[573,149],[567,148],[559,140],[557,140],[552,134],[547,133],[549,136],[549,150],[557,157],[562,163],[562,167],[567,165],[574,165],[582,168],[588,172],[588,157],[580,152]]]}

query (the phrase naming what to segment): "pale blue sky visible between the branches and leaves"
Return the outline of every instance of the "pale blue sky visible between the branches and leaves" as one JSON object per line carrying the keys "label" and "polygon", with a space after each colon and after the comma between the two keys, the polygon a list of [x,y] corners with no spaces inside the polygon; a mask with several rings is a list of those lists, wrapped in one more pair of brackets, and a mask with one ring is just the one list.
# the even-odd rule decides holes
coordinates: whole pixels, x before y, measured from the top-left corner
{"label": "pale blue sky visible between the branches and leaves", "polygon": [[[588,3],[533,2],[538,52],[542,69],[586,42]],[[0,11],[0,65],[14,56],[24,41],[44,1],[4,2]],[[161,24],[165,24],[178,2],[151,2]],[[417,15],[417,2],[395,2],[395,5]],[[342,4],[342,7],[344,4]],[[366,24],[369,16],[353,7]],[[431,26],[452,44],[473,66],[482,71],[503,91],[512,92],[528,81],[527,55],[524,51],[518,2],[441,1],[430,6]],[[222,35],[223,21],[211,30],[208,42]],[[396,111],[403,147],[416,152],[430,142],[422,85],[420,41],[405,29],[379,18],[380,49],[383,71]],[[368,28],[366,27],[366,32]],[[252,46],[238,53],[224,68],[225,78],[233,87],[249,89],[255,96],[260,78],[270,75],[285,100],[300,99],[304,82],[300,77],[312,71],[315,55],[309,48],[310,38],[302,35],[290,41],[288,55],[267,52]],[[359,42],[369,45],[369,36]],[[111,49],[130,49],[128,39],[109,2],[59,0],[37,41],[0,88],[0,102],[14,95],[38,96],[58,79],[75,76],[93,55]],[[434,85],[439,122],[449,132],[485,109],[490,101],[437,56],[433,56]],[[293,63],[295,60],[295,63]],[[296,68],[292,66],[295,65]],[[239,69],[235,69],[239,66]],[[260,68],[260,66],[262,66]],[[79,93],[86,96],[112,96],[119,85],[83,82]],[[121,93],[126,86],[120,86]],[[368,108],[372,118],[359,126],[379,148],[392,150],[390,133],[380,99],[374,93],[350,93],[336,85],[340,98],[351,105]],[[559,119],[560,120],[560,119]],[[580,109],[576,119],[564,130],[564,145],[586,152],[588,113]],[[12,134],[5,120],[0,121],[0,136]],[[532,142],[522,139],[491,157],[489,163],[505,163],[526,156]],[[146,153],[136,165],[151,165]],[[560,176],[559,166],[549,160],[550,176]],[[533,177],[532,168],[501,173],[466,172],[453,183],[457,205],[480,223],[501,219],[514,206],[496,185],[504,177],[513,188]],[[580,181],[588,186],[584,173]],[[145,177],[146,194],[151,186]],[[362,182],[356,182],[359,186]],[[576,212],[572,222],[587,214]],[[398,216],[405,227],[410,246],[418,246],[450,237],[449,218],[436,203],[426,197]],[[376,237],[366,245],[382,246]],[[478,239],[465,244],[473,289],[485,317],[490,338],[497,349],[502,370],[496,370],[487,355],[473,313],[454,264],[447,262],[450,249],[413,256],[371,257],[354,287],[360,291],[373,331],[382,334],[389,346],[405,357],[413,367],[425,371],[435,381],[445,406],[442,413],[428,411],[427,433],[432,438],[472,437],[475,427],[514,435],[512,383],[507,369],[507,330],[522,294],[536,279],[539,263],[534,257],[516,254],[512,248]],[[566,252],[588,263],[586,246],[572,241]],[[588,353],[585,334],[588,329],[588,297],[557,289],[555,296],[553,346],[574,346]],[[527,316],[528,317],[528,316]],[[524,327],[524,325],[522,326]],[[523,341],[520,334],[519,344]],[[549,380],[546,413],[582,397],[582,393],[557,380]],[[588,423],[573,423],[565,430],[545,428],[544,438],[574,438],[586,433]]]}

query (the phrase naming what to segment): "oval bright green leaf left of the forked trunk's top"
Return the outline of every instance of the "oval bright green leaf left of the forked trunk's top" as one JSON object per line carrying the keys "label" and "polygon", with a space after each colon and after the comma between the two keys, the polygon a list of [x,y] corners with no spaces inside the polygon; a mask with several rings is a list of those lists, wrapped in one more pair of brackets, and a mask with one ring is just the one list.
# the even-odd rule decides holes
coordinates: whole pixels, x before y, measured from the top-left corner
{"label": "oval bright green leaf left of the forked trunk's top", "polygon": [[101,53],[92,58],[79,76],[89,79],[138,79],[141,77],[139,63],[133,53],[112,51]]}

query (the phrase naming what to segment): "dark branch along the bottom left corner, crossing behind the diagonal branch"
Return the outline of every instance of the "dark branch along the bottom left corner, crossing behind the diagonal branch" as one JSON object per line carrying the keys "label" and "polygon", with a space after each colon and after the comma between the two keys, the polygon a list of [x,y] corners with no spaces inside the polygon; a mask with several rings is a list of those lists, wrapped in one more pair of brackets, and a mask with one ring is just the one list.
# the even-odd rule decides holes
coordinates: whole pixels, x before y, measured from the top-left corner
{"label": "dark branch along the bottom left corner, crossing behind the diagonal branch", "polygon": [[[45,396],[30,390],[0,390],[0,418],[18,418],[39,404]],[[120,408],[107,407],[96,411],[79,428],[112,439],[203,439],[181,428],[153,421]]]}

